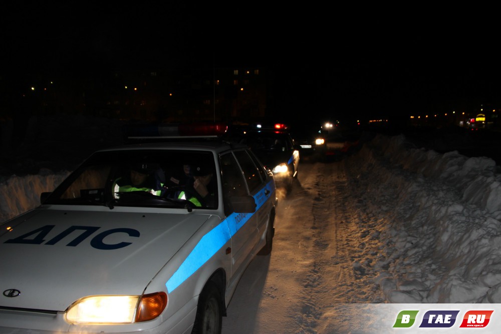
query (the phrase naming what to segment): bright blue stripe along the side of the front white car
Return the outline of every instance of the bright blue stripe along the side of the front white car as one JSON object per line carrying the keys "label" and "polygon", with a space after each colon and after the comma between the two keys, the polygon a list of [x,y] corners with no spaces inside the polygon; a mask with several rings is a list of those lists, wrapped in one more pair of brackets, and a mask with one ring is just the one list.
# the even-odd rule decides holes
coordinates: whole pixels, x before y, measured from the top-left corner
{"label": "bright blue stripe along the side of the front white car", "polygon": [[272,182],[270,181],[255,196],[256,211],[254,213],[230,214],[216,227],[205,234],[193,248],[191,253],[181,263],[176,272],[165,283],[167,291],[174,291],[182,282],[191,276],[198,268],[208,261],[222,246],[252,217],[267,200],[265,191],[271,192]]}

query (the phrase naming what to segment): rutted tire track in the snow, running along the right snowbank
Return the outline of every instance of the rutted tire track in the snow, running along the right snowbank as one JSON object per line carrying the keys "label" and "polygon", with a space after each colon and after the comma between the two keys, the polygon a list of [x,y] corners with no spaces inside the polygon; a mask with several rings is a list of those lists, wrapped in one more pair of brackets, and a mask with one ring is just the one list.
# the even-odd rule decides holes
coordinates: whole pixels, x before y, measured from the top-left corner
{"label": "rutted tire track in the snow, running along the right snowbank", "polygon": [[319,319],[335,303],[350,302],[353,298],[353,271],[350,245],[346,241],[349,220],[345,206],[348,192],[346,173],[341,163],[320,165],[323,172],[315,180],[312,206],[311,237],[308,255],[311,267],[303,281],[301,332],[317,332]]}

